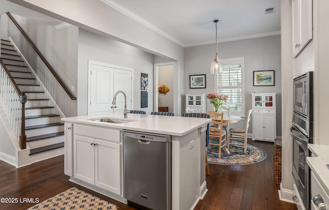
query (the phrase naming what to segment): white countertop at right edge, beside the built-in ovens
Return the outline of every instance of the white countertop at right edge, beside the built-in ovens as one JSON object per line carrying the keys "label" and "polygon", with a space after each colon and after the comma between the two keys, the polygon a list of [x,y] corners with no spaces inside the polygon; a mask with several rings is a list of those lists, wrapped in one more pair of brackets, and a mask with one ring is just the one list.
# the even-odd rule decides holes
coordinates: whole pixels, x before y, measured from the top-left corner
{"label": "white countertop at right edge, beside the built-in ovens", "polygon": [[307,147],[316,157],[307,157],[306,162],[329,195],[329,168],[325,166],[329,164],[329,145],[307,144]]}

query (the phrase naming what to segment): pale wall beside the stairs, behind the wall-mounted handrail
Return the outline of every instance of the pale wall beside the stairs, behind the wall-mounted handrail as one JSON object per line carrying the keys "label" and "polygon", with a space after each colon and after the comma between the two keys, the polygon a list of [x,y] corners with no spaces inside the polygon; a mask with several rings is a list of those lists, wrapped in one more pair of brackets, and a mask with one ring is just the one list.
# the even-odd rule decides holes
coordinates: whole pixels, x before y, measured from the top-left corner
{"label": "pale wall beside the stairs, behind the wall-mounted handrail", "polygon": [[[70,89],[71,86],[77,87],[78,27],[70,26],[62,30],[57,30],[53,26],[40,21],[15,14],[12,14],[12,16],[41,51],[68,89]],[[8,16],[4,14],[2,15],[2,19],[3,18],[8,19]],[[21,50],[65,116],[76,116],[77,101],[71,100],[67,96],[64,89],[53,77],[49,69],[44,65],[11,20],[8,21],[8,28],[8,34],[4,34],[4,36],[10,36]],[[77,88],[75,88],[75,91],[71,92],[74,96],[77,96]]]}

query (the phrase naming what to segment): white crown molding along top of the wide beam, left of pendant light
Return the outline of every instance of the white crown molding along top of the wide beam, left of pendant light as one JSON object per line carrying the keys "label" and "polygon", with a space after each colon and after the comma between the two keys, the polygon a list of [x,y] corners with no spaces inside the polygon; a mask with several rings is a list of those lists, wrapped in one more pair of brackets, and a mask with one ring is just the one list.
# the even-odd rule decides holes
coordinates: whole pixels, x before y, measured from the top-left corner
{"label": "white crown molding along top of the wide beam, left of pendant light", "polygon": [[118,10],[119,12],[131,17],[133,20],[137,21],[138,23],[148,27],[149,29],[159,33],[162,36],[165,36],[167,39],[173,41],[174,43],[184,47],[184,43],[180,42],[179,40],[177,40],[175,37],[169,35],[168,33],[166,33],[165,31],[159,29],[158,27],[156,27],[155,25],[151,24],[150,22],[148,22],[147,20],[143,19],[142,17],[138,16],[137,14],[135,14],[134,12],[130,11],[129,9],[119,5],[118,3],[114,2],[113,0],[101,0],[103,3],[107,4],[108,6]]}

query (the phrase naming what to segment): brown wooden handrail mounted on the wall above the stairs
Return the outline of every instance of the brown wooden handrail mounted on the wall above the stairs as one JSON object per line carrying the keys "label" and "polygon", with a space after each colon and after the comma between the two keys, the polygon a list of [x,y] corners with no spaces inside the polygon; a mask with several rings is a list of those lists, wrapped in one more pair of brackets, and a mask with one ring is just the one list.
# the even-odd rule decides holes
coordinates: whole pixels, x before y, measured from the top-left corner
{"label": "brown wooden handrail mounted on the wall above the stairs", "polygon": [[43,56],[43,54],[40,52],[40,50],[34,45],[34,43],[31,41],[31,39],[29,38],[29,36],[25,33],[25,31],[23,30],[23,28],[16,22],[15,18],[9,13],[6,12],[6,14],[8,15],[8,17],[10,18],[10,20],[15,24],[15,26],[21,31],[21,33],[23,34],[23,36],[25,37],[25,39],[28,41],[28,43],[30,43],[30,45],[32,46],[32,48],[35,50],[36,54],[39,55],[40,59],[44,62],[44,64],[48,67],[48,69],[50,70],[50,72],[52,73],[52,75],[56,78],[56,80],[58,81],[58,83],[62,86],[62,88],[64,89],[64,91],[66,92],[66,94],[68,95],[68,97],[71,100],[76,100],[77,98],[74,97],[72,95],[72,93],[68,90],[68,88],[66,87],[66,85],[64,84],[64,82],[61,80],[61,78],[59,77],[59,75],[56,73],[56,71],[51,67],[51,65],[49,64],[49,62],[45,59],[45,57]]}

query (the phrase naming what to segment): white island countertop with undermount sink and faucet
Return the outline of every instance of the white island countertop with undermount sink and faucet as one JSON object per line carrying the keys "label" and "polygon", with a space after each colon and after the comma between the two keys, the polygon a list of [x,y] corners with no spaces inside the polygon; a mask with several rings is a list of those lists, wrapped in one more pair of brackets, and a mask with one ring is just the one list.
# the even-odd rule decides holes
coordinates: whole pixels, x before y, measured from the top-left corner
{"label": "white island countertop with undermount sink and faucet", "polygon": [[[118,120],[129,120],[127,123],[106,123],[96,122],[88,119],[112,118]],[[92,116],[78,116],[70,118],[62,118],[62,121],[68,123],[79,123],[85,125],[93,125],[108,128],[118,128],[142,132],[160,133],[171,136],[184,136],[198,127],[211,122],[207,118],[187,118],[158,116],[151,114],[133,114],[128,113],[127,118],[123,118],[123,113],[97,114]]]}

